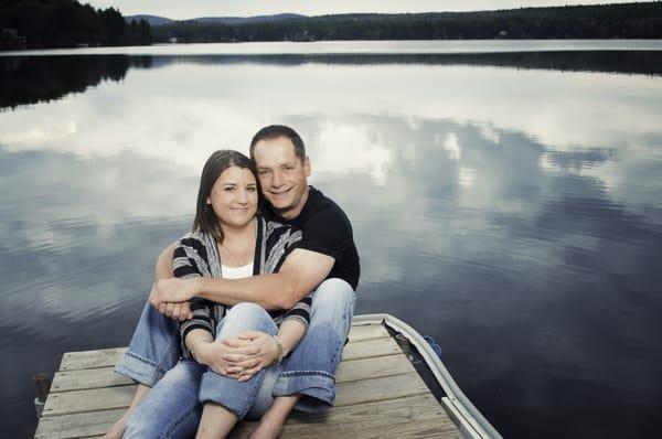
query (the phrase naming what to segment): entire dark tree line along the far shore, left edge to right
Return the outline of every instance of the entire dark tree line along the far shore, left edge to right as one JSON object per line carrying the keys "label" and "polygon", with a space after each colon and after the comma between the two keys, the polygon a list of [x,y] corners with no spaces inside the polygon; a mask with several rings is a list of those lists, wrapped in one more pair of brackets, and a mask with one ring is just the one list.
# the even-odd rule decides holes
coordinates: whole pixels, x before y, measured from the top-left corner
{"label": "entire dark tree line along the far shore, left edge to right", "polygon": [[2,0],[0,50],[154,42],[661,39],[662,2],[520,8],[482,12],[335,14],[248,23],[127,23],[114,8],[76,0]]}

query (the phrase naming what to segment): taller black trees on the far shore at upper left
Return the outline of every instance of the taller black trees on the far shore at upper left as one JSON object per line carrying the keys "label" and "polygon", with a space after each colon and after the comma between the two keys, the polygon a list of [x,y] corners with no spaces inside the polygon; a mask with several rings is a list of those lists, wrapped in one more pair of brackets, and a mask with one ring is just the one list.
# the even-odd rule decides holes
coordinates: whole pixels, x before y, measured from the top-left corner
{"label": "taller black trees on the far shore at upper left", "polygon": [[76,0],[2,0],[0,49],[151,44],[146,20],[127,23],[115,8]]}

